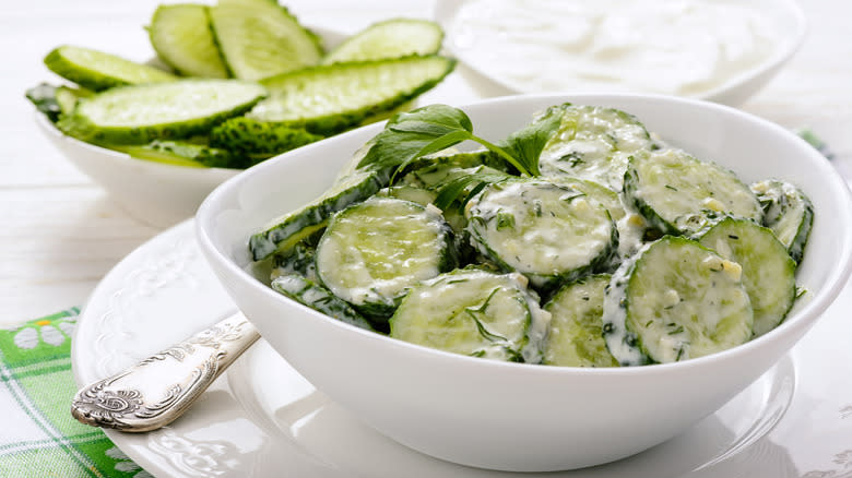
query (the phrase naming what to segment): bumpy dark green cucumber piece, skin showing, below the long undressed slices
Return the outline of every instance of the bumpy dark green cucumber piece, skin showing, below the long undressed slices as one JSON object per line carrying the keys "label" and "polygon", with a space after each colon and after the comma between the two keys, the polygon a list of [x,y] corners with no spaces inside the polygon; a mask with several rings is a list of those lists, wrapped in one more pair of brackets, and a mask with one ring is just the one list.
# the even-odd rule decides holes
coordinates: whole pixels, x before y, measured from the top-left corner
{"label": "bumpy dark green cucumber piece, skin showing, below the long undressed slices", "polygon": [[237,154],[274,156],[322,138],[303,128],[238,117],[213,128],[210,145]]}

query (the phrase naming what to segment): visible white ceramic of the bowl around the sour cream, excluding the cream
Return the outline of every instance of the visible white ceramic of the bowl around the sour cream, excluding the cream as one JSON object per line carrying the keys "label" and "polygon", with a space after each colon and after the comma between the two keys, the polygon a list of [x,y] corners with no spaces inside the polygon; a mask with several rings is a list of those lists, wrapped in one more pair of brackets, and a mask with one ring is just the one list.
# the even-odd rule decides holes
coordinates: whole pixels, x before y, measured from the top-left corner
{"label": "visible white ceramic of the bowl around the sour cream, excluding the cream", "polygon": [[[457,36],[459,32],[454,20],[459,9],[468,1],[437,0],[435,3],[434,16],[447,32],[445,48],[473,71],[509,92],[539,93],[531,83],[512,81],[500,75],[498,73],[499,70],[483,61],[480,56],[476,56],[470,48],[465,47],[465,44],[469,41],[468,38]],[[696,95],[695,97],[698,99],[707,99],[731,106],[743,104],[779,72],[781,67],[793,57],[793,53],[795,53],[805,39],[807,22],[796,0],[742,0],[741,3],[754,7],[756,11],[760,12],[764,20],[777,26],[779,32],[778,44],[776,45],[777,50],[766,61],[756,64],[739,75],[729,79],[710,91]],[[532,5],[526,5],[526,8],[534,9]],[[529,21],[529,19],[524,20]],[[522,65],[517,65],[517,68],[522,68]],[[583,88],[583,91],[587,89],[588,87]],[[572,92],[570,79],[566,77],[564,86],[558,88],[558,91]],[[612,85],[602,84],[601,91],[612,93]]]}

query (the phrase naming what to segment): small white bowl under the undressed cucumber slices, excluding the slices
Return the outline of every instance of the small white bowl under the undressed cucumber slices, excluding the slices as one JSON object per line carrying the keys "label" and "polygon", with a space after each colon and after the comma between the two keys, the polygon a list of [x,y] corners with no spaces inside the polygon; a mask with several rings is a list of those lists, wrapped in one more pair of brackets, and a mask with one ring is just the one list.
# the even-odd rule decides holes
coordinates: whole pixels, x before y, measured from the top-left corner
{"label": "small white bowl under the undressed cucumber slices, excluding the slices", "polygon": [[[331,48],[344,35],[328,28],[311,29]],[[156,59],[151,60],[155,62]],[[192,217],[216,186],[239,169],[196,168],[139,159],[64,135],[36,111],[36,123],[48,140],[83,174],[137,219],[167,227]]]}

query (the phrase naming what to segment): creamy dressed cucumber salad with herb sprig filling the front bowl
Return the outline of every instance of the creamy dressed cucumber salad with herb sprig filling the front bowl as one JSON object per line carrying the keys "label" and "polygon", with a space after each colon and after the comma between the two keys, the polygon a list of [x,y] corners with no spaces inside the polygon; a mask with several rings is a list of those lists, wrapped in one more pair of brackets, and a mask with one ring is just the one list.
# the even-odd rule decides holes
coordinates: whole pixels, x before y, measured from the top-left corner
{"label": "creamy dressed cucumber salad with herb sprig filling the front bowl", "polygon": [[330,190],[248,239],[252,270],[393,338],[565,367],[714,354],[798,297],[814,212],[795,184],[744,183],[591,105],[492,141],[446,105],[395,115]]}

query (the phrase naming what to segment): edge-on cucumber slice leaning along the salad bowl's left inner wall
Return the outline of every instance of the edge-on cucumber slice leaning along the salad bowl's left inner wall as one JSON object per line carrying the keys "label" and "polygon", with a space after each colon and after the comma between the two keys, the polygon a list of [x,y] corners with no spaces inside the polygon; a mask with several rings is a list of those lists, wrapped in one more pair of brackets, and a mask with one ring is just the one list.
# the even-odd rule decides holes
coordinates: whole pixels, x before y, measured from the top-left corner
{"label": "edge-on cucumber slice leaning along the salad bowl's left inner wall", "polygon": [[356,171],[343,178],[307,205],[270,222],[249,239],[249,252],[255,261],[275,251],[286,252],[298,241],[326,227],[331,215],[351,204],[364,201],[381,188],[377,175]]}

